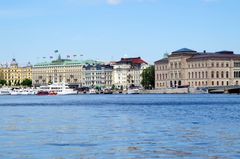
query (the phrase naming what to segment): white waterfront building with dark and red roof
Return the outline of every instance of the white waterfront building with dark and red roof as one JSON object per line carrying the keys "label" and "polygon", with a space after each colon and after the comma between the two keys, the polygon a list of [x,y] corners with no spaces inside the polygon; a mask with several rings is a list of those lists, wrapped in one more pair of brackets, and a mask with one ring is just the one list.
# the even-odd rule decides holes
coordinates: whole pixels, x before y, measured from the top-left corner
{"label": "white waterfront building with dark and red roof", "polygon": [[148,63],[141,57],[121,58],[113,65],[113,84],[117,87],[128,88],[131,85],[141,86],[141,74]]}

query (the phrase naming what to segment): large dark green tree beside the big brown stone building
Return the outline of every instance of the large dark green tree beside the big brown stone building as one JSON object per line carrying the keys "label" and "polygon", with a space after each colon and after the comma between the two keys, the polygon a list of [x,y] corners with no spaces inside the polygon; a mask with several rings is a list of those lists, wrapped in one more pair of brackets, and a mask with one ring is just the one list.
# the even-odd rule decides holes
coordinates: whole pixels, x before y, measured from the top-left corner
{"label": "large dark green tree beside the big brown stone building", "polygon": [[145,89],[152,89],[155,87],[155,70],[154,66],[150,66],[143,70],[141,84]]}

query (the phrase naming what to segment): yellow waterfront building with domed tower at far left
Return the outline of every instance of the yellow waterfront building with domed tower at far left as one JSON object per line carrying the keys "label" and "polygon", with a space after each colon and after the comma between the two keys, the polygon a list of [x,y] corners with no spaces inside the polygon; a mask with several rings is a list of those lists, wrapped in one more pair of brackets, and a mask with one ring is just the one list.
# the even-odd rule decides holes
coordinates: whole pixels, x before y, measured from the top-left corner
{"label": "yellow waterfront building with domed tower at far left", "polygon": [[6,80],[9,86],[18,86],[24,79],[32,80],[32,65],[30,62],[26,66],[21,67],[16,59],[13,58],[10,65],[1,65],[0,70],[0,78]]}

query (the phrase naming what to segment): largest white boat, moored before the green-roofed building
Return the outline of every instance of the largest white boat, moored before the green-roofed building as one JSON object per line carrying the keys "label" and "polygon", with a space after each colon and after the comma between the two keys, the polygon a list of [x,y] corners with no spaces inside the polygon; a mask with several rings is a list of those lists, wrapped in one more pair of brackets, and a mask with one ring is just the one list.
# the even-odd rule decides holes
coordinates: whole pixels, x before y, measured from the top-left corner
{"label": "largest white boat, moored before the green-roofed building", "polygon": [[69,88],[67,84],[51,84],[48,86],[40,86],[38,92],[48,92],[49,95],[74,95],[78,92]]}

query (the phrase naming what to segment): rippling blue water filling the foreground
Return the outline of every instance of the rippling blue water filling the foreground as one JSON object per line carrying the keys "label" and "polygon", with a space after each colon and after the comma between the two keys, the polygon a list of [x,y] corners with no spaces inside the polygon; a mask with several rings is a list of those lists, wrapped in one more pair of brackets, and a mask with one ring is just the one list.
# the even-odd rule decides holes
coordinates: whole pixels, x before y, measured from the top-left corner
{"label": "rippling blue water filling the foreground", "polygon": [[240,158],[239,97],[1,96],[0,159]]}

